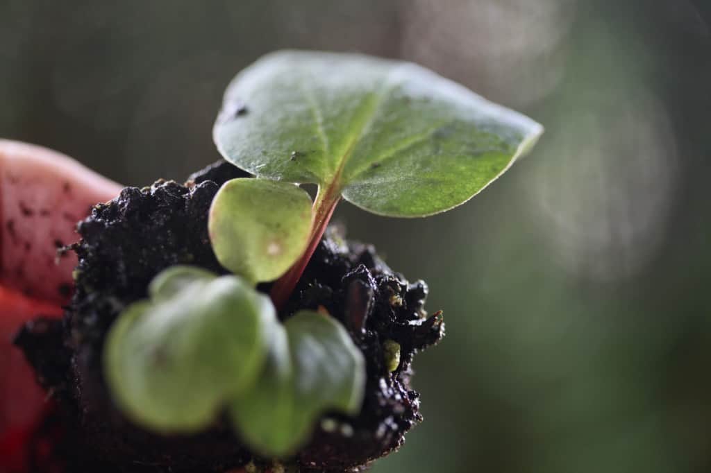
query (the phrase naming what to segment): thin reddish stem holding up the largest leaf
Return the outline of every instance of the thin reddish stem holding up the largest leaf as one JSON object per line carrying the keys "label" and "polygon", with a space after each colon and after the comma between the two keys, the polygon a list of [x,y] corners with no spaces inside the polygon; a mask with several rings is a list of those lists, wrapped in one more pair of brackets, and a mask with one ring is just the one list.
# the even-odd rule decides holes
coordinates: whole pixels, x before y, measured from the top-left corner
{"label": "thin reddish stem holding up the largest leaf", "polygon": [[301,279],[306,265],[311,261],[311,256],[313,256],[314,251],[316,251],[316,247],[319,246],[321,237],[324,236],[328,222],[331,220],[333,210],[336,209],[339,200],[341,200],[341,192],[336,189],[336,186],[329,186],[325,192],[321,192],[321,187],[319,187],[319,193],[316,195],[316,200],[314,200],[314,222],[311,224],[309,246],[306,246],[306,251],[304,251],[304,254],[294,263],[294,266],[289,268],[289,271],[277,279],[277,282],[272,286],[270,295],[274,307],[276,307],[278,311],[284,308],[284,305],[287,304],[287,300],[289,300],[292,292],[294,292],[296,283]]}

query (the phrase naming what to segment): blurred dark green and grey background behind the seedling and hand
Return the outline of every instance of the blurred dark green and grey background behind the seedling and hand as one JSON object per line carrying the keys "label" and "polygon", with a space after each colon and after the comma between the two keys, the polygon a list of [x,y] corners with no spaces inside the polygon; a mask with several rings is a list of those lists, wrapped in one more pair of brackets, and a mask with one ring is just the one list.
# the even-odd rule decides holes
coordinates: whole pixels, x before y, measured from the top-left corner
{"label": "blurred dark green and grey background behind the seedling and hand", "polygon": [[547,132],[447,214],[338,210],[447,320],[425,421],[373,471],[710,472],[710,3],[0,0],[0,136],[183,179],[263,53],[432,67]]}

